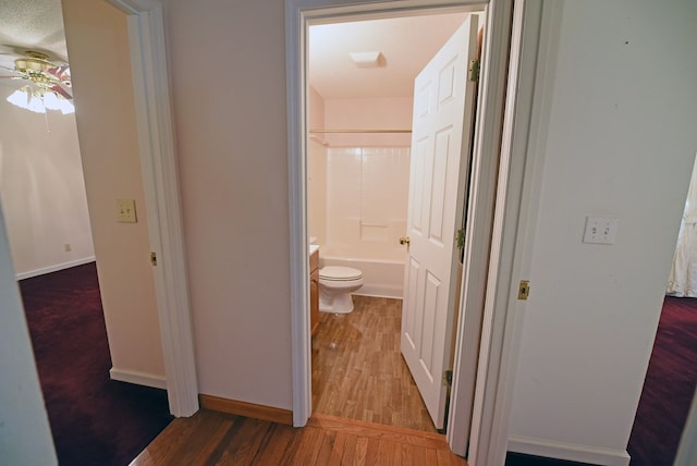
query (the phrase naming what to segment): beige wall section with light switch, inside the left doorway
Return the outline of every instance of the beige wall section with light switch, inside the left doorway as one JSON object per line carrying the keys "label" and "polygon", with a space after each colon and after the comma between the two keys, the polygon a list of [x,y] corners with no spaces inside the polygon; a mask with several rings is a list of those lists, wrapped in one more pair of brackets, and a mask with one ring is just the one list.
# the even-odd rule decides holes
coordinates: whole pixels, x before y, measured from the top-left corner
{"label": "beige wall section with light switch, inside the left doorway", "polygon": [[[126,19],[106,1],[62,7],[111,375],[163,387]],[[135,199],[137,223],[117,222],[120,198]]]}

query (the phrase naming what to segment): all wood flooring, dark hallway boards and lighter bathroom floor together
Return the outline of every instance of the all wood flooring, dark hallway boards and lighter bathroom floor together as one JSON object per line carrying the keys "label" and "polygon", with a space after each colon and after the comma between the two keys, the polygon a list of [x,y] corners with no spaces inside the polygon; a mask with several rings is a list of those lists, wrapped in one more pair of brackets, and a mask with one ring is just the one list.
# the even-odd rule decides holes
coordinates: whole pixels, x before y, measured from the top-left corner
{"label": "all wood flooring, dark hallway boards and lighter bathroom floor together", "polygon": [[355,296],[313,338],[313,406],[303,428],[203,409],[174,419],[132,466],[460,465],[436,432],[400,354],[402,302]]}

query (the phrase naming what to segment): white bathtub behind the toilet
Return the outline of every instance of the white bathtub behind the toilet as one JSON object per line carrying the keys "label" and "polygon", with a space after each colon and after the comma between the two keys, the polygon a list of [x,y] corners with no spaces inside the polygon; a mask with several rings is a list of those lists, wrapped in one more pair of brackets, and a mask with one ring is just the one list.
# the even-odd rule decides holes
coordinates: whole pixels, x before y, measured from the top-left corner
{"label": "white bathtub behind the toilet", "polygon": [[363,272],[363,286],[354,294],[363,296],[393,297],[402,299],[404,289],[404,261],[354,259],[333,256],[319,248],[319,267],[353,267]]}

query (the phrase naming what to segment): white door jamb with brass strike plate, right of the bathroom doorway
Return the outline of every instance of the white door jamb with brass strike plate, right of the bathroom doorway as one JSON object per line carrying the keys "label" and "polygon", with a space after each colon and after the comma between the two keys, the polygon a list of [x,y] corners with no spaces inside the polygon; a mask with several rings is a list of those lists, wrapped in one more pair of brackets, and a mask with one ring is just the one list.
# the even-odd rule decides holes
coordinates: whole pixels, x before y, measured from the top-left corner
{"label": "white door jamb with brass strike plate, right of the bathroom doorway", "polygon": [[497,194],[468,456],[473,466],[505,462],[525,315],[517,289],[533,257],[561,8],[561,2],[515,1],[501,147],[501,172],[508,179],[499,179]]}

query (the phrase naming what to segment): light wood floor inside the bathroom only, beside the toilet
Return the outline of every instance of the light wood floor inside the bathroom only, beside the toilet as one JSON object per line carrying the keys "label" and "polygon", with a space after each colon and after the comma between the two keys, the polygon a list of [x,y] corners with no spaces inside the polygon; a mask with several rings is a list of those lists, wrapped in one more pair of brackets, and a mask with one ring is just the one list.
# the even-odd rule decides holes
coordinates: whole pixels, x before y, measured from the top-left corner
{"label": "light wood floor inside the bathroom only, beside the toilet", "polygon": [[400,353],[402,301],[354,296],[354,307],[320,312],[313,338],[314,413],[436,432]]}

